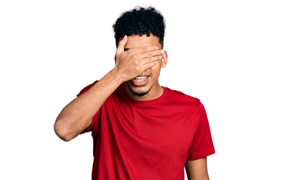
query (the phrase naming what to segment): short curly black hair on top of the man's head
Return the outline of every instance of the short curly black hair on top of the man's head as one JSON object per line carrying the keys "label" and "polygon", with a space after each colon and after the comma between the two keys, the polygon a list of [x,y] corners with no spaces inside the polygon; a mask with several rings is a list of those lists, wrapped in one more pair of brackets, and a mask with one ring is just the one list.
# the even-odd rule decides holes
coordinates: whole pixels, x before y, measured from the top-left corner
{"label": "short curly black hair on top of the man's head", "polygon": [[139,34],[142,36],[142,34],[147,34],[149,37],[150,33],[158,37],[162,49],[164,47],[165,19],[162,13],[154,7],[150,6],[145,9],[136,6],[134,9],[122,13],[112,27],[115,33],[116,47],[118,47],[119,39],[125,35]]}

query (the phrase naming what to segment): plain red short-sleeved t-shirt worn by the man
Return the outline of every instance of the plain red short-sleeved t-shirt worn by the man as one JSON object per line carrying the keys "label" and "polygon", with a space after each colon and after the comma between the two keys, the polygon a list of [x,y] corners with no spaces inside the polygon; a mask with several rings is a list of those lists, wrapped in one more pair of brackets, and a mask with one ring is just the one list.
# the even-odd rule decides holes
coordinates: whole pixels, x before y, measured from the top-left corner
{"label": "plain red short-sleeved t-shirt worn by the man", "polygon": [[92,131],[92,179],[182,180],[187,160],[215,153],[201,101],[163,88],[159,98],[139,101],[122,83],[102,104],[81,133]]}

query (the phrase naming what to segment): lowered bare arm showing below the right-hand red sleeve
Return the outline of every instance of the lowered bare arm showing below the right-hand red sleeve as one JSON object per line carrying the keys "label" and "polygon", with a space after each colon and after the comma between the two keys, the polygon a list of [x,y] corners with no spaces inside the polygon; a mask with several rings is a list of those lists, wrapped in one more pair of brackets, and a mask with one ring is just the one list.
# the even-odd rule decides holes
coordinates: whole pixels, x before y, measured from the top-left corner
{"label": "lowered bare arm showing below the right-hand red sleeve", "polygon": [[185,169],[188,180],[210,180],[207,170],[207,157],[186,161]]}

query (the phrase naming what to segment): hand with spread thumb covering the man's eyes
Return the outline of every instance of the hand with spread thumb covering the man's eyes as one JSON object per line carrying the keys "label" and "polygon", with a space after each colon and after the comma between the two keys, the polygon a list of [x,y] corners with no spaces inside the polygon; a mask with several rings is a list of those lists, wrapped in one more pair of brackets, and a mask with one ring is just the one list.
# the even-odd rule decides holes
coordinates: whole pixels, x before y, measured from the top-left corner
{"label": "hand with spread thumb covering the man's eyes", "polygon": [[155,66],[164,54],[162,50],[158,50],[157,46],[142,46],[125,51],[127,41],[126,35],[125,39],[119,42],[115,54],[115,68],[120,73],[123,82],[136,78],[146,69]]}

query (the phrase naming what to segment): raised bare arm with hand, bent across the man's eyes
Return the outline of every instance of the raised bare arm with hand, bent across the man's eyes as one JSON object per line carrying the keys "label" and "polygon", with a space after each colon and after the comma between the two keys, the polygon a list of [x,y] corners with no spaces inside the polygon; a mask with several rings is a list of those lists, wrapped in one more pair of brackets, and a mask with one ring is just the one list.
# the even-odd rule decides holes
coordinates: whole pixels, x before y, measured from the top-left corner
{"label": "raised bare arm with hand, bent across the man's eyes", "polygon": [[115,55],[115,68],[86,92],[69,102],[58,115],[54,130],[62,140],[69,141],[77,137],[91,125],[94,115],[119,85],[137,77],[162,59],[164,52],[158,50],[156,46],[125,51],[127,40],[128,37],[125,35],[125,38],[119,42]]}

